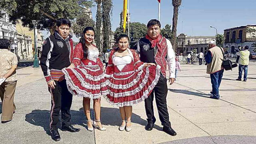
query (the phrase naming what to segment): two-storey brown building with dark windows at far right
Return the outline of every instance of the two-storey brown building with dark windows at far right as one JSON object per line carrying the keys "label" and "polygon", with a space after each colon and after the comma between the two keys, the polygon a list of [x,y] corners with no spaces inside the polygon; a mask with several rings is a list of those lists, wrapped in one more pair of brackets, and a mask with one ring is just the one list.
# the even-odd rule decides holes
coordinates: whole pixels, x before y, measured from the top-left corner
{"label": "two-storey brown building with dark windows at far right", "polygon": [[256,48],[256,25],[240,26],[224,30],[224,48],[228,53],[236,53],[238,46],[249,46],[251,53]]}

